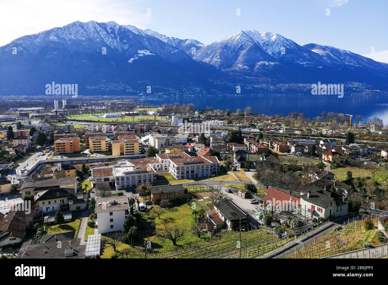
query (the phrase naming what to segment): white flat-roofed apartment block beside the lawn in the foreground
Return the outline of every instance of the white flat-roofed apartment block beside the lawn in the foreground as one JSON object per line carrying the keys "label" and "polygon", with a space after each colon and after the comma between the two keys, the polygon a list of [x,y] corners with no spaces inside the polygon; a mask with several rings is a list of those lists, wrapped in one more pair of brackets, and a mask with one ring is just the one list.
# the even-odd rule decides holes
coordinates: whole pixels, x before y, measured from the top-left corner
{"label": "white flat-roofed apartment block beside the lawn in the foreground", "polygon": [[95,213],[98,233],[122,230],[124,220],[129,215],[129,209],[126,195],[97,198]]}

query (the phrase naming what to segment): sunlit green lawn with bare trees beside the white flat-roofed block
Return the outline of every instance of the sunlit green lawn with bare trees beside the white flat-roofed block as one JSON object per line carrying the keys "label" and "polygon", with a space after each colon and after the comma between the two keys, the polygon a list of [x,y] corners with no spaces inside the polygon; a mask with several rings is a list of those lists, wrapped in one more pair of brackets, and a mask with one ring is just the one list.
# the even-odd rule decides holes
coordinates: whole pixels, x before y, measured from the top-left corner
{"label": "sunlit green lawn with bare trees beside the white flat-roofed block", "polygon": [[[166,209],[165,213],[161,215],[162,219],[158,218],[158,215],[151,214],[147,216],[145,212],[140,212],[142,216],[142,220],[139,225],[139,239],[135,243],[135,247],[130,247],[127,244],[120,243],[118,246],[118,250],[123,250],[126,248],[131,249],[131,254],[128,256],[130,258],[142,257],[143,255],[139,255],[139,250],[136,247],[141,247],[144,245],[145,240],[151,241],[151,247],[154,250],[158,250],[159,252],[163,252],[165,250],[170,250],[175,248],[170,240],[165,240],[163,238],[159,238],[155,234],[156,231],[164,229],[164,223],[167,226],[176,226],[179,229],[185,230],[187,233],[183,237],[178,238],[177,245],[181,246],[184,244],[188,244],[191,242],[196,242],[199,240],[197,235],[193,234],[191,231],[191,225],[194,220],[194,216],[192,215],[191,206],[188,204],[182,204],[180,201],[172,201],[173,207]],[[159,206],[155,206],[159,207]],[[197,206],[199,207],[199,206]],[[153,226],[152,221],[154,221],[155,226]],[[209,234],[204,234],[201,236],[202,238],[209,237]],[[114,250],[112,247],[108,246],[103,249],[101,258],[110,258],[114,254]]]}

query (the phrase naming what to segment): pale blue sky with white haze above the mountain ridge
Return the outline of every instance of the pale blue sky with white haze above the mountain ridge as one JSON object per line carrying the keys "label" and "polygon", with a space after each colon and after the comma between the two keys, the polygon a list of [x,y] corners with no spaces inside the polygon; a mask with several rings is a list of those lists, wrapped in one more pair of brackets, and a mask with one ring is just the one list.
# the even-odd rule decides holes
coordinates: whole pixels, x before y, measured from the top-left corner
{"label": "pale blue sky with white haze above the mountain ridge", "polygon": [[95,20],[204,44],[240,29],[270,31],[300,45],[331,45],[388,62],[387,15],[387,0],[0,0],[0,45],[73,21]]}

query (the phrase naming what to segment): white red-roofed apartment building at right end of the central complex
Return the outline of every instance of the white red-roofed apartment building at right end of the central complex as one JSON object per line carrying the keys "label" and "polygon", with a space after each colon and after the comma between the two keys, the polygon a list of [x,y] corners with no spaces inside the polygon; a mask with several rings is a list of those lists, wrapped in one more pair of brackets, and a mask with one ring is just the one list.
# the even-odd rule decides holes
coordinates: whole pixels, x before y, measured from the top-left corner
{"label": "white red-roofed apartment building at right end of the central complex", "polygon": [[197,178],[220,172],[220,162],[215,156],[173,158],[170,159],[169,168],[177,179]]}

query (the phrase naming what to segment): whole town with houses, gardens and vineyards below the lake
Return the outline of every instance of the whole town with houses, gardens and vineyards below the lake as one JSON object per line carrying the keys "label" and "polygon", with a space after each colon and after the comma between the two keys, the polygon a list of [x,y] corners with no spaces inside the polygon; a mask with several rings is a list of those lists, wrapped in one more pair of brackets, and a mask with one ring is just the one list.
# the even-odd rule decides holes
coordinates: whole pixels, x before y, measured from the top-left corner
{"label": "whole town with houses, gardens and vineyards below the lake", "polygon": [[232,109],[0,110],[1,258],[387,257],[382,119]]}

